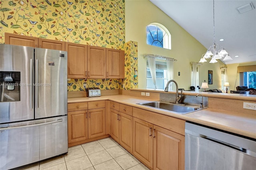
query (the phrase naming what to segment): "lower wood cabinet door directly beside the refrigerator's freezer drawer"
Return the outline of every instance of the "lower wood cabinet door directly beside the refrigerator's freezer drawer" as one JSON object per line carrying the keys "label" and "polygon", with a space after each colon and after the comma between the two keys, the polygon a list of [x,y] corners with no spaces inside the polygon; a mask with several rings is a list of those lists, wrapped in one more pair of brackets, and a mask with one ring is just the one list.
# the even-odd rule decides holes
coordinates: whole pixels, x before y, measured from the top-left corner
{"label": "lower wood cabinet door directly beside the refrigerator's freezer drawer", "polygon": [[88,139],[87,110],[68,112],[68,143]]}

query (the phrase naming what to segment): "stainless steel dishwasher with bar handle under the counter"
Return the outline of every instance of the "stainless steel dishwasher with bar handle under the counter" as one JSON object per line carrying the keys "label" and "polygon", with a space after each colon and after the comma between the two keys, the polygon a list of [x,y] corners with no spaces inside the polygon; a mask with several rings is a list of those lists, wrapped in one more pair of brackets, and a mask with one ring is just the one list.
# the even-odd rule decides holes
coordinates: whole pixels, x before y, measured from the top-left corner
{"label": "stainless steel dishwasher with bar handle under the counter", "polygon": [[185,123],[185,170],[255,170],[256,139]]}

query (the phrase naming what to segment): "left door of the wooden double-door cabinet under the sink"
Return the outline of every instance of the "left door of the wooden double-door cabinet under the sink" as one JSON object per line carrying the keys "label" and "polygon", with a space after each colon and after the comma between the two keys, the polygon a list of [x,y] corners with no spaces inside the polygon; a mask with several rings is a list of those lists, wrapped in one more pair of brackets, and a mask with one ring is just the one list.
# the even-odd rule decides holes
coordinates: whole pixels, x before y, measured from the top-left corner
{"label": "left door of the wooden double-door cabinet under the sink", "polygon": [[133,154],[153,168],[153,125],[133,118]]}

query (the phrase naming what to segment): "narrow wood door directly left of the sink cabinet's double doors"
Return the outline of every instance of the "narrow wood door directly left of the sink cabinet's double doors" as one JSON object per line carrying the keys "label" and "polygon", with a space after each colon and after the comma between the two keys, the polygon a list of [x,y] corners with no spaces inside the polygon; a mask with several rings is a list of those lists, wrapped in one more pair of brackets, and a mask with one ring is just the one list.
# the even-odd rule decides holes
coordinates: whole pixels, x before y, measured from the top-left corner
{"label": "narrow wood door directly left of the sink cabinet's double doors", "polygon": [[119,112],[120,116],[120,138],[119,142],[126,150],[132,152],[132,117]]}

